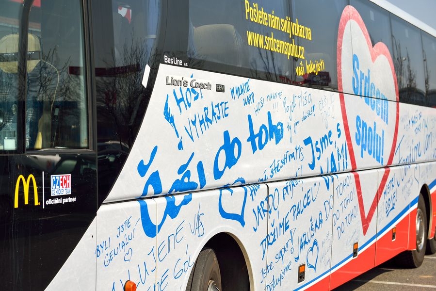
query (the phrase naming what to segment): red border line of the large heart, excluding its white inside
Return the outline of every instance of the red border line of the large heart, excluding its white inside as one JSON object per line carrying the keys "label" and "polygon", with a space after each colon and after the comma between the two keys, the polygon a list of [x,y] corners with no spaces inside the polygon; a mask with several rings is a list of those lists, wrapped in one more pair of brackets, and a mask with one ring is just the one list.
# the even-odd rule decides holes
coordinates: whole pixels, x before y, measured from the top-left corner
{"label": "red border line of the large heart, excluding its white inside", "polygon": [[[394,64],[392,62],[392,58],[390,56],[388,47],[384,43],[381,43],[381,42],[375,44],[375,46],[372,47],[370,35],[366,29],[366,26],[365,26],[361,16],[359,15],[357,10],[353,6],[346,6],[344,11],[342,12],[342,16],[341,16],[340,21],[339,21],[339,32],[338,32],[337,64],[338,64],[338,89],[339,89],[339,92],[343,92],[343,87],[344,87],[343,83],[342,83],[342,81],[343,81],[342,80],[343,38],[344,38],[344,33],[346,32],[347,24],[350,21],[354,21],[355,24],[357,24],[360,27],[360,30],[366,39],[366,46],[368,47],[368,50],[371,53],[372,64],[374,64],[376,62],[377,58],[385,57],[386,60],[388,61],[389,66],[390,66],[390,68],[388,68],[388,70],[387,70],[387,73],[388,74],[391,73],[392,77],[393,77],[392,80],[393,80],[393,85],[395,86],[395,100],[396,100],[396,102],[395,102],[395,104],[392,104],[392,102],[388,102],[388,103],[389,103],[389,107],[396,106],[396,109],[395,109],[395,111],[396,111],[395,129],[393,131],[392,145],[390,146],[390,151],[388,154],[388,162],[383,162],[384,165],[389,166],[392,164],[392,160],[393,160],[394,152],[395,152],[395,146],[397,144],[398,115],[399,115],[399,108],[400,108],[400,105],[398,103],[398,84],[397,84],[397,77],[395,74]],[[348,32],[351,33],[351,29]],[[356,47],[362,46],[363,47],[363,46],[365,46],[365,43],[355,44],[354,39],[353,39],[353,46],[356,46]],[[350,60],[349,64],[351,64],[351,63],[352,63],[352,60]],[[344,65],[349,65],[349,64],[344,64]],[[389,72],[389,69],[390,69],[390,72]],[[369,70],[368,70],[368,72],[369,72]],[[369,79],[369,73],[368,73],[368,79]],[[371,90],[372,90],[372,87],[371,87]],[[390,169],[389,169],[389,167],[385,167],[385,172],[384,172],[383,177],[382,177],[380,184],[378,186],[377,193],[375,193],[374,198],[373,198],[372,203],[371,203],[371,207],[368,211],[368,215],[366,215],[364,203],[363,203],[362,188],[360,185],[359,173],[355,172],[355,170],[357,169],[356,158],[355,158],[355,149],[353,147],[352,137],[350,134],[350,128],[349,128],[348,116],[347,116],[347,108],[345,106],[344,94],[339,93],[339,98],[340,98],[340,107],[341,107],[341,112],[342,112],[342,120],[343,120],[344,128],[345,128],[345,137],[347,140],[347,146],[348,146],[349,154],[350,154],[350,162],[351,162],[351,166],[352,166],[353,175],[355,177],[357,198],[358,198],[359,209],[360,209],[360,218],[362,220],[362,229],[363,229],[363,234],[366,235],[366,232],[368,231],[372,217],[374,216],[374,212],[377,209],[377,204],[378,204],[380,197],[381,197],[381,195],[378,195],[377,193],[382,193],[383,189],[385,188]],[[392,99],[392,98],[390,98],[390,99]],[[362,112],[359,112],[359,113],[362,113]],[[353,116],[353,117],[355,117],[355,116]],[[374,127],[374,132],[375,132],[375,127]]]}

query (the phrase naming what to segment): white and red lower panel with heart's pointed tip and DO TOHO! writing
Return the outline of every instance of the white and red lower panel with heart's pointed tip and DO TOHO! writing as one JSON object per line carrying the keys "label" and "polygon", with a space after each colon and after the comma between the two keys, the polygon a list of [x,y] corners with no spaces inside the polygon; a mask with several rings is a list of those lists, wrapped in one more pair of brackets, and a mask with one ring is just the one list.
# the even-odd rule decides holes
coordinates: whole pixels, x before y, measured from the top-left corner
{"label": "white and red lower panel with heart's pointed tip and DO TOHO! writing", "polygon": [[[374,267],[377,171],[335,176],[330,289]],[[374,183],[375,182],[375,183]],[[355,245],[357,243],[357,245]],[[354,250],[357,248],[357,256]]]}

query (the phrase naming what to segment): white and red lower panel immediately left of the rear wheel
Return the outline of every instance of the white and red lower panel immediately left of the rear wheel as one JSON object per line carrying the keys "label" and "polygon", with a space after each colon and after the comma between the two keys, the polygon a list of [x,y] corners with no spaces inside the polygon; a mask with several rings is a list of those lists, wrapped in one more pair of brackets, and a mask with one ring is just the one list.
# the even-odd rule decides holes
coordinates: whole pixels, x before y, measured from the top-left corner
{"label": "white and red lower panel immediately left of the rear wheel", "polygon": [[[385,171],[378,171],[379,180]],[[410,165],[390,168],[386,185],[379,191],[375,265],[393,258],[408,247],[409,204],[417,188],[413,173]]]}

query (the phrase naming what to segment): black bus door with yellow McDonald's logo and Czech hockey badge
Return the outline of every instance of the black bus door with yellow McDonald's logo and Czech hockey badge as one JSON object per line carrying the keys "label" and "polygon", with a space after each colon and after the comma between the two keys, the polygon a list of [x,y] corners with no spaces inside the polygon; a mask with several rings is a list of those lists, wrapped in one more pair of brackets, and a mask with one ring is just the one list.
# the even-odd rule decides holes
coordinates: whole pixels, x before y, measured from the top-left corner
{"label": "black bus door with yellow McDonald's logo and Czech hockey badge", "polygon": [[82,3],[0,0],[4,289],[44,290],[96,215]]}

